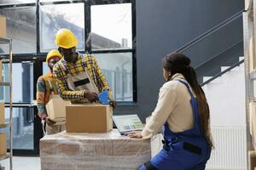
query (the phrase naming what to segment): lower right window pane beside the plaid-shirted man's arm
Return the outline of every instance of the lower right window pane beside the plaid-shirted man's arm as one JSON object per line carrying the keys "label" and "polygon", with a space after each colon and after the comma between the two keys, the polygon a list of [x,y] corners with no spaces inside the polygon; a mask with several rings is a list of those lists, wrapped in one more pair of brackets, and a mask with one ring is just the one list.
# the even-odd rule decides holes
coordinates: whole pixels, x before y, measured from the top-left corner
{"label": "lower right window pane beside the plaid-shirted man's arm", "polygon": [[132,101],[132,54],[93,54],[117,101]]}

